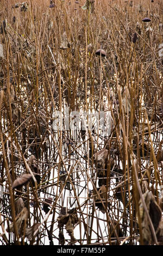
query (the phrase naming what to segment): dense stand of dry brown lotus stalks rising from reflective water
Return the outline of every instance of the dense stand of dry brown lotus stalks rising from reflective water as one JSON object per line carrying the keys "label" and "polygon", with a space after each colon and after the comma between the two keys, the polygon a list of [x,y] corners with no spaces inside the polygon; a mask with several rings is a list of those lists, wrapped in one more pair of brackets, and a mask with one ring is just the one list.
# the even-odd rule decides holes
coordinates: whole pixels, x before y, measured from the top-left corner
{"label": "dense stand of dry brown lotus stalks rising from reflective water", "polygon": [[[8,2],[0,4],[1,245],[143,245],[142,194],[152,191],[162,207],[163,3],[95,0],[91,13],[81,0],[28,1],[26,11]],[[101,47],[106,57],[96,56]],[[66,107],[110,113],[111,133],[89,123],[54,131],[54,112]],[[93,155],[104,148],[99,163]],[[23,172],[33,178],[13,189]],[[75,208],[66,220],[62,206]]]}

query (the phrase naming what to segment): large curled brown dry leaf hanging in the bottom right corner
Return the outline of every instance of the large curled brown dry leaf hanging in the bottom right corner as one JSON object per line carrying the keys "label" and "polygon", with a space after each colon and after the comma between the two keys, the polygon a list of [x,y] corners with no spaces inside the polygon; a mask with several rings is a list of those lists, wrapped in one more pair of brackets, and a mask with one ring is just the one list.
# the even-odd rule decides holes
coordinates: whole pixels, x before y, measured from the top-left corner
{"label": "large curled brown dry leaf hanging in the bottom right corner", "polygon": [[[149,216],[151,217],[151,221],[153,223],[153,227],[155,230],[156,237],[160,243],[163,242],[163,227],[162,227],[162,212],[160,206],[156,203],[155,198],[151,191],[146,191],[143,194],[143,198],[145,200],[147,210],[149,212]],[[144,245],[151,245],[154,243],[152,231],[149,225],[149,221],[147,218],[147,214],[145,209],[143,208],[142,200],[139,201],[139,211],[142,225],[142,237]]]}

